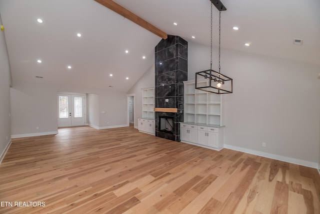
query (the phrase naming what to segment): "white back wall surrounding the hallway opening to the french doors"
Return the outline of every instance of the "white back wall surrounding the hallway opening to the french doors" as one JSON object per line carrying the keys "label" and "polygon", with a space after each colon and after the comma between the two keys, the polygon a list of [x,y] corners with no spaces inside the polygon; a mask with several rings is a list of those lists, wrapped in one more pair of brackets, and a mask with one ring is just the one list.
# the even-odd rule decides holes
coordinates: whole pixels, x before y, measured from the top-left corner
{"label": "white back wall surrounding the hallway opening to the french doors", "polygon": [[[58,92],[96,94],[99,105],[97,109],[100,110],[95,112],[99,115],[97,128],[126,125],[125,93],[45,85],[40,81],[32,84],[13,82],[13,88],[10,89],[12,137],[56,133]],[[101,111],[105,111],[105,115],[102,116]],[[39,127],[38,130],[35,129],[36,126]]]}

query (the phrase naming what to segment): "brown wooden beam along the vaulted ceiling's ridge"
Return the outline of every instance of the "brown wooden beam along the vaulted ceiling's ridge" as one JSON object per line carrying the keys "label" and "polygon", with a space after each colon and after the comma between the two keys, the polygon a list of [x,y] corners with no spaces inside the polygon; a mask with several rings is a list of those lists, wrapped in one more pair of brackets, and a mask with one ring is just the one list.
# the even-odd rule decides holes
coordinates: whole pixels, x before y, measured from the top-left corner
{"label": "brown wooden beam along the vaulted ceiling's ridge", "polygon": [[125,17],[126,19],[134,22],[135,24],[150,31],[151,33],[161,37],[162,39],[167,39],[168,35],[166,33],[154,27],[153,25],[141,19],[140,17],[136,16],[135,14],[131,13],[130,11],[126,10],[122,6],[116,4],[115,2],[111,0],[94,0],[94,1],[114,11],[115,13],[121,15],[122,17]]}

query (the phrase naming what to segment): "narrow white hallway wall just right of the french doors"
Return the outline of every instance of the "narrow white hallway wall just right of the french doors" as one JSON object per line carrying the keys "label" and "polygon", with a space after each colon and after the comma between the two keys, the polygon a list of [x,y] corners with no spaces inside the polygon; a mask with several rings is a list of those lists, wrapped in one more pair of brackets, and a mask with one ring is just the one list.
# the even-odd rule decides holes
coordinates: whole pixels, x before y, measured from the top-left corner
{"label": "narrow white hallway wall just right of the french doors", "polygon": [[99,127],[99,95],[88,94],[87,95],[87,124],[94,128]]}

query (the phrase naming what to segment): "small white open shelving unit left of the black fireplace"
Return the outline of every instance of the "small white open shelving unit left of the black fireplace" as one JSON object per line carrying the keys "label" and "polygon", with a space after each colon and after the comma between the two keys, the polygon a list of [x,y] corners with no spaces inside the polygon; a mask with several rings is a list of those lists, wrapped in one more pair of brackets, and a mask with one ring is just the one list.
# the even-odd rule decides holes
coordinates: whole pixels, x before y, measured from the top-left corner
{"label": "small white open shelving unit left of the black fireplace", "polygon": [[142,90],[142,118],[154,119],[154,88]]}

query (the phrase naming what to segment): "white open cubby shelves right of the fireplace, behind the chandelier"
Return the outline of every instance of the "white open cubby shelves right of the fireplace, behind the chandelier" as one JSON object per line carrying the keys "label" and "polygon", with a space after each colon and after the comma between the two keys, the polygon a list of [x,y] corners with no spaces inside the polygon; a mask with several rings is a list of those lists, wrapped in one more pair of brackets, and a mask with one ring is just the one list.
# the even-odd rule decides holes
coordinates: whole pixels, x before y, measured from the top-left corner
{"label": "white open cubby shelves right of the fireplace, behind the chandelier", "polygon": [[[222,126],[221,95],[195,89],[194,80],[184,81],[184,123]],[[198,82],[207,86],[208,81]]]}

